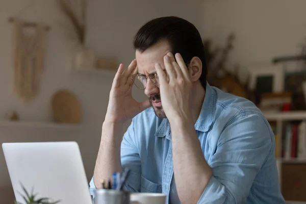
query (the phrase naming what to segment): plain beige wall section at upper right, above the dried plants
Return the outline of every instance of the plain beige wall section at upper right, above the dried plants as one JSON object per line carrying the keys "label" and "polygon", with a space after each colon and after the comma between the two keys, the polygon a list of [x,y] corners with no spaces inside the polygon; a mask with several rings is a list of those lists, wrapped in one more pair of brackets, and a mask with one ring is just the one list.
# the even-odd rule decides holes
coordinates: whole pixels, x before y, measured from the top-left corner
{"label": "plain beige wall section at upper right, above the dried plants", "polygon": [[270,63],[273,57],[300,53],[299,43],[306,43],[305,7],[304,0],[207,0],[202,5],[202,35],[223,45],[235,32],[232,64],[246,68]]}

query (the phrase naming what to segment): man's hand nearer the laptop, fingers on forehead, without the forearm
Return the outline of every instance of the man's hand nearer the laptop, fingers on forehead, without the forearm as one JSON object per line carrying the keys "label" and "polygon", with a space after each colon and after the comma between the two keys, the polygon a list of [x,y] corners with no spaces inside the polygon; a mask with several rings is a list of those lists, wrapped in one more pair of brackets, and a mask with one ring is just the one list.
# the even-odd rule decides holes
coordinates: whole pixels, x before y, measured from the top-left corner
{"label": "man's hand nearer the laptop, fingers on forehead, without the forearm", "polygon": [[110,91],[109,104],[105,122],[124,123],[138,113],[150,107],[149,100],[141,103],[132,97],[132,75],[138,72],[136,59],[123,71],[123,64],[119,65]]}

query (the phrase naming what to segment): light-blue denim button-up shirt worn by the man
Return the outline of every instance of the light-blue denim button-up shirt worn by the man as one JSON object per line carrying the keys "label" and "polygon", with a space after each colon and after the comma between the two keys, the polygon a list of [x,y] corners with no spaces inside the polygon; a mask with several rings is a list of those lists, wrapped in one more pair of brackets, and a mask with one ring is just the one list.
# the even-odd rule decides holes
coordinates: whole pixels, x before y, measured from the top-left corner
{"label": "light-blue denim button-up shirt worn by the man", "polygon": [[[285,203],[278,182],[274,135],[253,103],[207,84],[194,128],[213,170],[198,203]],[[121,143],[121,163],[131,169],[124,183],[126,190],[163,192],[166,203],[180,203],[170,124],[152,108],[133,118]],[[94,188],[91,180],[91,194]]]}

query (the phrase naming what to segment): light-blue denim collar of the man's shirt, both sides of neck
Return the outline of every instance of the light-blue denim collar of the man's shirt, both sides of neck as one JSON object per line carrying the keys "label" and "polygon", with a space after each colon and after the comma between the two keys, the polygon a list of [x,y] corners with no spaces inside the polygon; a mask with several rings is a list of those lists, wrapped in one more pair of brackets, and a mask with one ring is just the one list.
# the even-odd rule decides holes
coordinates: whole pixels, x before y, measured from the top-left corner
{"label": "light-blue denim collar of the man's shirt, both sides of neck", "polygon": [[[206,93],[201,108],[200,115],[195,122],[194,128],[197,131],[207,132],[209,131],[212,123],[214,122],[214,115],[216,111],[217,93],[216,91],[207,83]],[[171,130],[170,123],[167,118],[164,118],[159,125],[155,136],[165,137],[171,140]]]}

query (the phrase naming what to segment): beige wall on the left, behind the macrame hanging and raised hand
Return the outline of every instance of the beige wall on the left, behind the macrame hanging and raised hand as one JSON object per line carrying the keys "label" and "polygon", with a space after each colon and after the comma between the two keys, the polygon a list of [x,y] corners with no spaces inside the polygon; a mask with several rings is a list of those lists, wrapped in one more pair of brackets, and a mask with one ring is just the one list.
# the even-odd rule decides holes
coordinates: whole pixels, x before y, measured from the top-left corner
{"label": "beige wall on the left, behind the macrame hanging and raised hand", "polygon": [[[32,103],[24,104],[14,93],[12,68],[12,24],[9,16],[27,5],[23,0],[0,0],[0,120],[5,112],[14,109],[25,121],[50,121],[50,98],[65,88],[76,94],[83,108],[81,127],[58,129],[49,127],[0,126],[0,143],[30,141],[78,141],[88,179],[92,176],[113,73],[66,72],[70,42],[64,35],[65,21],[56,9],[56,1],[33,1],[22,17],[42,21],[51,26],[47,36],[47,55],[41,78],[40,94]],[[202,2],[190,1],[89,1],[88,46],[99,56],[117,56],[127,65],[134,59],[132,39],[137,29],[151,18],[176,15],[201,25]],[[36,15],[33,13],[36,12]],[[64,23],[64,24],[63,24]],[[67,24],[66,24],[67,25]],[[144,96],[134,91],[137,99]],[[33,164],[35,165],[35,164]],[[13,203],[9,174],[2,150],[0,151],[0,198],[2,203]],[[38,167],[39,168],[39,167]],[[5,199],[5,200],[4,200]]]}

